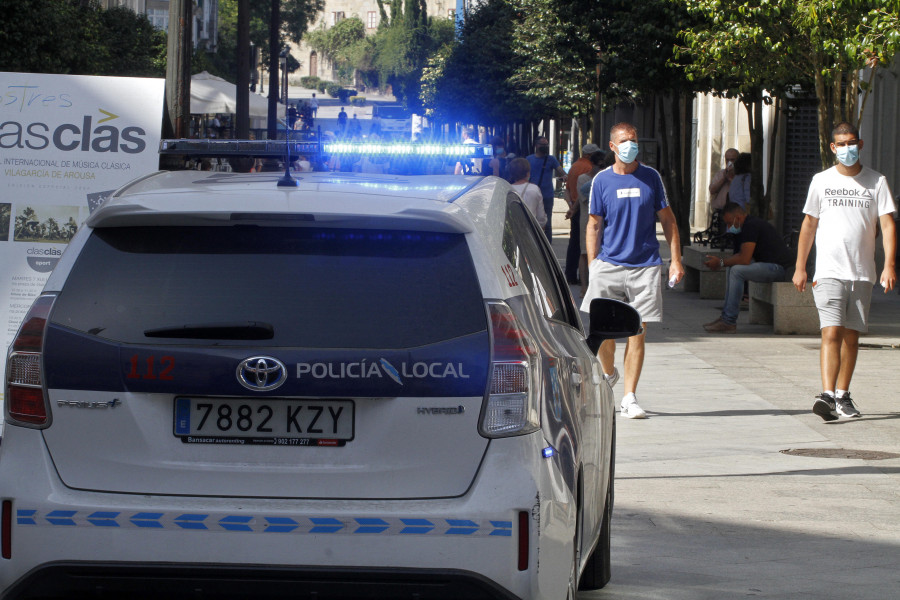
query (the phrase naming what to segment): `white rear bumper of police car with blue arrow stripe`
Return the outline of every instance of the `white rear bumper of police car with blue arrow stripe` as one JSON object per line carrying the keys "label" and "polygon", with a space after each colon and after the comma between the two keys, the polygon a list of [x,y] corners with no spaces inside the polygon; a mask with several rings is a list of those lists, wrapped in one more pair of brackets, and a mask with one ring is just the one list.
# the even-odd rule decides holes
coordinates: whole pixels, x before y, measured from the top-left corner
{"label": "white rear bumper of police car with blue arrow stripe", "polygon": [[554,459],[541,456],[545,445],[540,433],[493,440],[458,498],[259,500],[72,490],[40,432],[7,427],[3,450],[15,447],[16,460],[0,452],[0,499],[12,502],[0,594],[53,597],[81,585],[140,597],[159,585],[154,595],[217,597],[257,585],[255,597],[293,586],[339,597],[557,598],[571,568],[575,502]]}

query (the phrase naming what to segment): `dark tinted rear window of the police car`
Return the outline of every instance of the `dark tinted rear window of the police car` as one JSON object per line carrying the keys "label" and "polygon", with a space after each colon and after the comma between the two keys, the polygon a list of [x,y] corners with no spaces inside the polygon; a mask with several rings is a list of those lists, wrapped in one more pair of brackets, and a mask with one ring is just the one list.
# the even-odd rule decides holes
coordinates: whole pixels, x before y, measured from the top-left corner
{"label": "dark tinted rear window of the police car", "polygon": [[[191,327],[212,332],[200,343],[313,348],[408,348],[486,329],[460,234],[256,226],[97,229],[52,321],[125,343],[196,345],[165,333]],[[270,333],[238,339],[242,323]]]}

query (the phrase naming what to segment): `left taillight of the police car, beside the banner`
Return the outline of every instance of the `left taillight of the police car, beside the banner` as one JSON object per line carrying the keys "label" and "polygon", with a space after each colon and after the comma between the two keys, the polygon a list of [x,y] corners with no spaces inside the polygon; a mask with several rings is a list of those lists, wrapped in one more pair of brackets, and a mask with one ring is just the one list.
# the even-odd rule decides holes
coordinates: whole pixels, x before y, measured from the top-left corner
{"label": "left taillight of the police car, beside the banner", "polygon": [[46,427],[50,412],[44,398],[41,352],[47,317],[56,296],[38,297],[31,305],[6,359],[6,419],[26,426]]}

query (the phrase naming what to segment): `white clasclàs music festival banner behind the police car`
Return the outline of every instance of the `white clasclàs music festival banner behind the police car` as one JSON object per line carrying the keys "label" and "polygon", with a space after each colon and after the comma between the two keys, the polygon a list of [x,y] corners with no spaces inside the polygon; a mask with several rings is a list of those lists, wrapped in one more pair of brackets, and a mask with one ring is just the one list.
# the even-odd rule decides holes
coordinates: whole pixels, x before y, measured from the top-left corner
{"label": "white clascl\u00e0s music festival banner behind the police car", "polygon": [[88,214],[158,168],[163,102],[162,79],[0,72],[3,348]]}

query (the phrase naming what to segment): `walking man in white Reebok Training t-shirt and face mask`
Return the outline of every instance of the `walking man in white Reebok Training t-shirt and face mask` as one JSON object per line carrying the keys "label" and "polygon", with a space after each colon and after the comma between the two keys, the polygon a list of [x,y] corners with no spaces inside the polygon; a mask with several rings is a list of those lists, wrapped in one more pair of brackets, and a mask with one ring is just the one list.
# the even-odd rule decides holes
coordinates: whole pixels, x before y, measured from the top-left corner
{"label": "walking man in white Reebok Training t-shirt and face mask", "polygon": [[809,186],[800,228],[794,285],[806,289],[806,259],[816,244],[813,296],[822,330],[822,393],[813,412],[826,421],[859,417],[850,398],[859,334],[868,329],[869,304],[875,285],[875,236],[881,224],[887,293],[897,281],[897,239],[893,196],[884,175],[859,162],[863,141],[859,130],[839,123],[832,131],[831,151],[838,163],[816,174]]}

